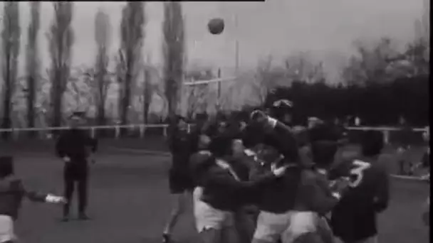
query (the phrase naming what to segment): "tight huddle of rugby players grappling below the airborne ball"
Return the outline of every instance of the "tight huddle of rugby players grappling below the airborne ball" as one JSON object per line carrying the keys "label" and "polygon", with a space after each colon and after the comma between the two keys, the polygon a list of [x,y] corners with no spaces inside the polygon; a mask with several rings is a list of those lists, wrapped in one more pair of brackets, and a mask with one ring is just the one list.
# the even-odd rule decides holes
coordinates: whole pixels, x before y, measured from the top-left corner
{"label": "tight huddle of rugby players grappling below the airborne ball", "polygon": [[[284,116],[276,113],[281,120],[291,102],[273,107],[281,111],[284,106]],[[183,156],[172,147],[170,183],[194,190],[194,217],[203,242],[376,240],[376,214],[389,200],[387,174],[377,165],[382,133],[365,131],[362,154],[335,165],[340,137],[334,126],[317,122],[296,131],[290,119],[283,124],[260,111],[250,118],[246,127],[184,133],[178,141],[196,139],[198,144],[188,160],[181,159],[188,158],[187,147],[180,150]],[[276,151],[273,162],[258,158],[253,147],[263,145]],[[183,180],[173,180],[177,168],[184,171]]]}

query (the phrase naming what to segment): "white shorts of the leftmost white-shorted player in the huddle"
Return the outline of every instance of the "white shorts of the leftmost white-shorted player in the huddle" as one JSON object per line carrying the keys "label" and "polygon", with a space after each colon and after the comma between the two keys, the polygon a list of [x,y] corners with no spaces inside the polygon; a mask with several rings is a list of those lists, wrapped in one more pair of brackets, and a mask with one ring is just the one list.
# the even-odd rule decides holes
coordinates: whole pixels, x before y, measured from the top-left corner
{"label": "white shorts of the leftmost white-shorted player in the huddle", "polygon": [[203,188],[198,187],[194,188],[194,193],[192,194],[197,232],[200,233],[204,229],[222,229],[233,225],[233,213],[218,210],[206,202],[203,202],[200,200],[202,193]]}

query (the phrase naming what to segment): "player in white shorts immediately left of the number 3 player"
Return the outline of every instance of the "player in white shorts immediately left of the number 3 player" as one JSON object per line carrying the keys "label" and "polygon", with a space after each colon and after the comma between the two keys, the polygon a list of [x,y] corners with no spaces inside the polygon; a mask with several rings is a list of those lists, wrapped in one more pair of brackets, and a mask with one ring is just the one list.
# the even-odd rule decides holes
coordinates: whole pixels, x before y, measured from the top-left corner
{"label": "player in white shorts immediately left of the number 3 player", "polygon": [[303,214],[295,215],[298,218],[291,221],[283,242],[333,242],[332,232],[323,216],[337,205],[348,188],[347,180],[338,180],[332,187],[328,180],[328,170],[333,165],[337,149],[335,141],[312,142],[313,168],[303,171],[296,196],[295,210]]}

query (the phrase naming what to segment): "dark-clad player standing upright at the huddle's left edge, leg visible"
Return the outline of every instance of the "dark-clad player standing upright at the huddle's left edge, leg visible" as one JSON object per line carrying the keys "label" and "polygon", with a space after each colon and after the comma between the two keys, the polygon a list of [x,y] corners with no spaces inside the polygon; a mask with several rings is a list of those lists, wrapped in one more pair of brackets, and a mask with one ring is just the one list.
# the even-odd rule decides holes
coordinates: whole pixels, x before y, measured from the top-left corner
{"label": "dark-clad player standing upright at the huddle's left edge, leg visible", "polygon": [[194,181],[189,169],[189,158],[197,151],[197,134],[192,134],[184,117],[175,116],[169,122],[169,151],[172,164],[169,168],[169,190],[172,194],[172,210],[167,220],[162,242],[170,242],[172,228],[192,200]]}

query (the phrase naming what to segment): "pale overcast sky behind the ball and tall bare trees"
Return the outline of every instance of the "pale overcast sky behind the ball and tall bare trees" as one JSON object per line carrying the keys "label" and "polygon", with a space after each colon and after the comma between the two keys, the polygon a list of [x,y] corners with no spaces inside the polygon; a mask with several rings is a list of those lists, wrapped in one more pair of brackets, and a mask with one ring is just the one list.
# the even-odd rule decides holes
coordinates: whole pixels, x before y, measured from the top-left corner
{"label": "pale overcast sky behind the ball and tall bare trees", "polygon": [[[277,59],[309,50],[322,60],[331,74],[353,52],[353,41],[374,41],[390,36],[401,45],[414,37],[414,21],[422,16],[424,0],[268,0],[263,2],[188,2],[184,3],[189,63],[234,66],[234,40],[240,43],[241,66],[256,65],[259,58]],[[28,26],[28,3],[21,4],[21,26]],[[110,16],[111,53],[119,44],[120,12],[123,2],[75,3],[73,63],[90,65],[95,55],[94,17],[98,9]],[[145,53],[153,63],[161,63],[162,3],[146,3]],[[45,32],[53,17],[52,4],[42,3],[41,58],[48,65]],[[239,24],[234,25],[237,14]],[[226,30],[220,36],[207,32],[207,21],[221,17]],[[23,29],[23,46],[26,30]],[[22,48],[21,50],[24,50]],[[21,60],[24,51],[21,51]],[[21,62],[21,66],[24,62]]]}

